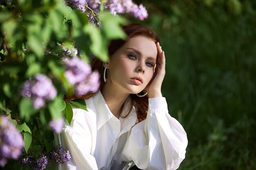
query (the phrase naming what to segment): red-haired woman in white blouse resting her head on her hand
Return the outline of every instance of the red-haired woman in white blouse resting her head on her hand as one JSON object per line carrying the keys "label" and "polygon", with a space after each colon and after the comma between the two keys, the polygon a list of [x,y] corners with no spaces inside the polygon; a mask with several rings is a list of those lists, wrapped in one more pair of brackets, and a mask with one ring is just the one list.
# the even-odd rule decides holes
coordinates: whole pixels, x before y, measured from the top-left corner
{"label": "red-haired woman in white blouse resting her head on her hand", "polygon": [[141,24],[123,26],[128,40],[113,40],[97,93],[84,97],[88,111],[73,109],[59,142],[70,150],[60,170],[173,170],[185,158],[187,137],[168,114],[161,93],[165,56],[156,33]]}

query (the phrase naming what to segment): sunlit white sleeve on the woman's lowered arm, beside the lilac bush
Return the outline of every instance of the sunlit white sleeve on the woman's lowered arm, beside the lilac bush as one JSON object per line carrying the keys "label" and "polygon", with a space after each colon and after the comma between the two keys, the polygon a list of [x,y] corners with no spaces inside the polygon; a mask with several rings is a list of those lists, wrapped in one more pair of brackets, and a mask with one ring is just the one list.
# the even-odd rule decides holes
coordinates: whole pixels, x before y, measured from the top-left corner
{"label": "sunlit white sleeve on the woman's lowered arm, beside the lilac bush", "polygon": [[94,119],[85,110],[73,109],[71,124],[66,122],[60,134],[63,148],[70,150],[71,160],[58,165],[58,170],[98,170],[95,158],[92,156],[94,146]]}

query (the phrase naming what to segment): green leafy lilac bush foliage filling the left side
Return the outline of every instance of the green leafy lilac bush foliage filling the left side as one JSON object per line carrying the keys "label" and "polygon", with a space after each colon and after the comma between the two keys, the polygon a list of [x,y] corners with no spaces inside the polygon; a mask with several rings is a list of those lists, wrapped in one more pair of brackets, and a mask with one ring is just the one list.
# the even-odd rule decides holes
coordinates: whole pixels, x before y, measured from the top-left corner
{"label": "green leafy lilac bush foliage filling the left side", "polygon": [[[63,0],[0,1],[0,114],[9,115],[22,133],[26,153],[38,156],[54,148],[52,130],[62,128],[62,117],[70,123],[71,104],[86,110],[84,102],[64,101],[76,90],[66,76],[64,59],[90,62],[94,55],[107,61],[108,42],[126,38],[120,29],[126,19],[108,11],[97,15],[101,28],[88,24],[86,13]],[[45,160],[44,155],[38,159]],[[5,168],[21,167],[9,160]]]}

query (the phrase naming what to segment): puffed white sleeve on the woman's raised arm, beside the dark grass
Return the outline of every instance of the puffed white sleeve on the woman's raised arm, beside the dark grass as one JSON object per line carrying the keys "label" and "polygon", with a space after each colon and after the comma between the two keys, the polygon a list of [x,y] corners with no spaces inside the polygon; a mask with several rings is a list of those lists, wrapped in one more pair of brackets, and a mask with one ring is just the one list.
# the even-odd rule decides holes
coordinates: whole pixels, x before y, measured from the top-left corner
{"label": "puffed white sleeve on the woman's raised arm, beside the dark grass", "polygon": [[133,126],[122,151],[123,161],[142,170],[176,170],[188,140],[181,124],[168,114],[166,99],[149,99],[147,118]]}

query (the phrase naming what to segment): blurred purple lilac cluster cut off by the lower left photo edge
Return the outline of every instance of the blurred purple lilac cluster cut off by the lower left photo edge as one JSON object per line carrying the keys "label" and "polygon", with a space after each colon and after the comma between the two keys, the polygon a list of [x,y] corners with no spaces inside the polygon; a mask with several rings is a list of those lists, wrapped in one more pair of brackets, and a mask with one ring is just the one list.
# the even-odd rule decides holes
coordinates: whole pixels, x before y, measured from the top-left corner
{"label": "blurred purple lilac cluster cut off by the lower left photo edge", "polygon": [[18,130],[5,116],[0,116],[0,166],[4,167],[7,159],[18,159],[23,144]]}

